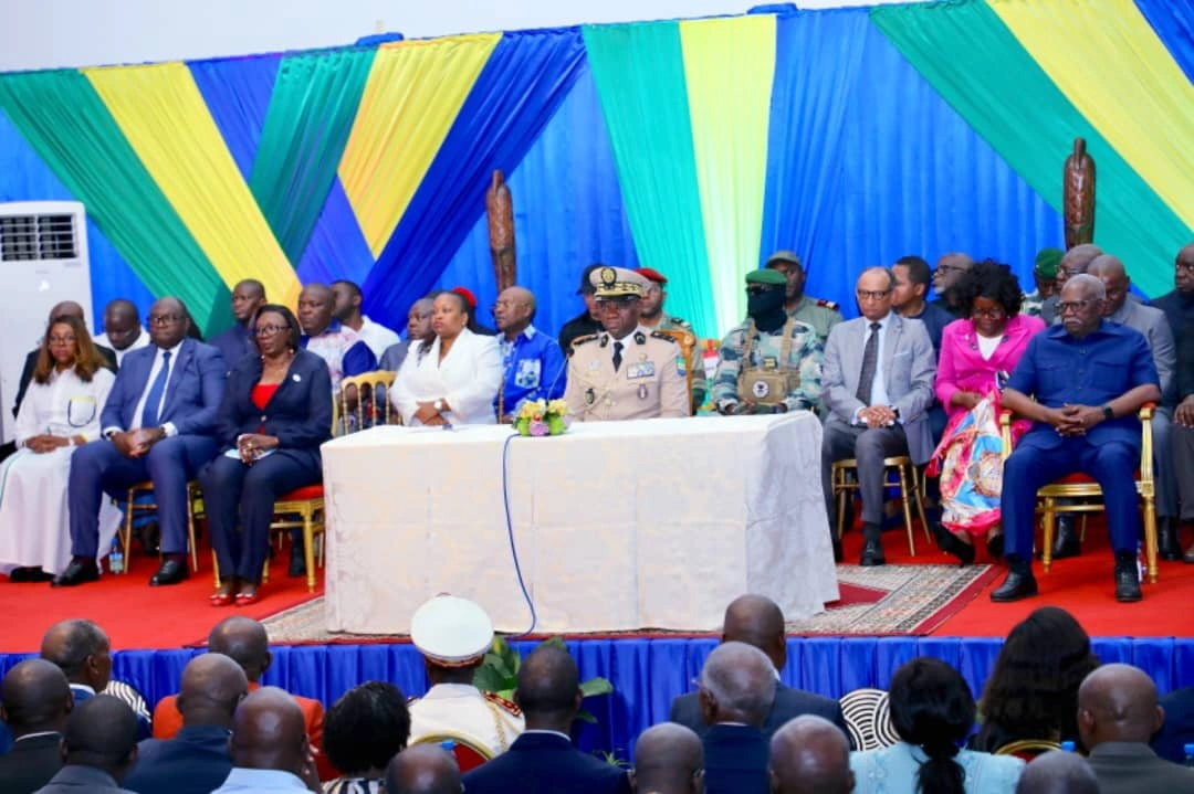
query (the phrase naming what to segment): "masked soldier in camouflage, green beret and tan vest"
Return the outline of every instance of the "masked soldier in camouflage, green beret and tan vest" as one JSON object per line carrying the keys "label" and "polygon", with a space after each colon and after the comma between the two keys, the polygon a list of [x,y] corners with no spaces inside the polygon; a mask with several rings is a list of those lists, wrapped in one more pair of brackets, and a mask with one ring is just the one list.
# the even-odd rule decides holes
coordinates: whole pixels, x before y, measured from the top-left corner
{"label": "masked soldier in camouflage, green beret and tan vest", "polygon": [[721,341],[713,404],[721,414],[813,410],[820,401],[821,343],[817,330],[783,310],[787,279],[778,271],[746,274],[746,322]]}

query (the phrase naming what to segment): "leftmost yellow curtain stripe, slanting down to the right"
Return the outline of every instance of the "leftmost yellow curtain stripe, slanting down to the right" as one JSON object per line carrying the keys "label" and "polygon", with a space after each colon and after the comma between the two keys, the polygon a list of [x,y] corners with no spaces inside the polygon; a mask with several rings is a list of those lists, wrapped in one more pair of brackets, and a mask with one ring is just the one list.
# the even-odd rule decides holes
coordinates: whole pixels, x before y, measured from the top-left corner
{"label": "leftmost yellow curtain stripe, slanting down to the right", "polygon": [[224,284],[256,278],[270,300],[295,305],[298,279],[190,69],[160,63],[82,73]]}

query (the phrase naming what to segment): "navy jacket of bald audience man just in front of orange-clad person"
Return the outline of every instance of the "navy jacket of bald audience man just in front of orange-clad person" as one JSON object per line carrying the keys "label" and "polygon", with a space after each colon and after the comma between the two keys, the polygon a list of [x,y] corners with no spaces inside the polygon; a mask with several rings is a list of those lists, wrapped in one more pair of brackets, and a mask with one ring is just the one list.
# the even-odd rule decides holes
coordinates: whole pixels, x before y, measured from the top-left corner
{"label": "navy jacket of bald audience man just in front of orange-clad person", "polygon": [[146,739],[121,784],[137,794],[210,794],[232,771],[228,736],[219,725],[195,725],[173,739]]}

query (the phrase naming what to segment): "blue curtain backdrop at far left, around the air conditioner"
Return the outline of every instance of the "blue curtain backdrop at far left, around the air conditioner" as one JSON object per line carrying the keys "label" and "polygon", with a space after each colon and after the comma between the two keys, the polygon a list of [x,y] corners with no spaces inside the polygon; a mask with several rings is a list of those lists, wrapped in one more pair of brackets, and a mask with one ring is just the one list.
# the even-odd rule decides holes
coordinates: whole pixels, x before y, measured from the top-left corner
{"label": "blue curtain backdrop at far left, around the air conditioner", "polygon": [[[73,201],[75,198],[0,110],[0,203],[62,200]],[[147,314],[154,300],[153,294],[90,216],[87,248],[91,259],[92,333],[103,331],[104,306],[113,298],[128,298],[142,316]]]}

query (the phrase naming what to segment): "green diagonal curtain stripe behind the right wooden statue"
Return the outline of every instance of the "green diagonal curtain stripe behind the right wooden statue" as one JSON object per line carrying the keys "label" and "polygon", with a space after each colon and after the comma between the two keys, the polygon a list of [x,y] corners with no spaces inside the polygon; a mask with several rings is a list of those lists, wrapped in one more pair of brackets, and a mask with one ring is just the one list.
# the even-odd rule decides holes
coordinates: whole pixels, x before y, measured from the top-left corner
{"label": "green diagonal curtain stripe behind the right wooden statue", "polygon": [[999,17],[978,0],[879,6],[870,19],[1033,190],[1061,211],[1073,138],[1097,168],[1095,242],[1150,296],[1173,289],[1190,229],[1079,113]]}

